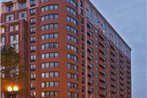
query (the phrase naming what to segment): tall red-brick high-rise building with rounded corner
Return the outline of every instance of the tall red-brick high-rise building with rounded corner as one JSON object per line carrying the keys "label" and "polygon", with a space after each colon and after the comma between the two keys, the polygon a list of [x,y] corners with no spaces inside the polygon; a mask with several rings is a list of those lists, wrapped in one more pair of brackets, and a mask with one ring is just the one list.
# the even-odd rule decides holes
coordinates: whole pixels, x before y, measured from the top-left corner
{"label": "tall red-brick high-rise building with rounded corner", "polygon": [[0,9],[0,46],[15,47],[28,72],[18,98],[131,98],[131,48],[90,0]]}

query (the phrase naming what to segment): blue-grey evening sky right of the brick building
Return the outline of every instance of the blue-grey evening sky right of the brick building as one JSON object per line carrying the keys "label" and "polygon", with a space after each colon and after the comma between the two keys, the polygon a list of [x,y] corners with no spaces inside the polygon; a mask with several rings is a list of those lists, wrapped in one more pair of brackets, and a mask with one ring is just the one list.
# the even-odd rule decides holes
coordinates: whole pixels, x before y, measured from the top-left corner
{"label": "blue-grey evening sky right of the brick building", "polygon": [[91,0],[132,48],[132,96],[147,98],[146,0]]}

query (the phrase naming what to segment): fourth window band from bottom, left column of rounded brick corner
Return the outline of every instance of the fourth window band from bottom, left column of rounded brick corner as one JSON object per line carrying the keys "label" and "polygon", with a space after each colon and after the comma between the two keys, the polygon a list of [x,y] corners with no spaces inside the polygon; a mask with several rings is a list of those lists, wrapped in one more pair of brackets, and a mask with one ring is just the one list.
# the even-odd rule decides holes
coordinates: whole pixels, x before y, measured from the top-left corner
{"label": "fourth window band from bottom, left column of rounded brick corner", "polygon": [[59,62],[47,62],[41,64],[41,69],[56,68],[56,67],[59,67]]}

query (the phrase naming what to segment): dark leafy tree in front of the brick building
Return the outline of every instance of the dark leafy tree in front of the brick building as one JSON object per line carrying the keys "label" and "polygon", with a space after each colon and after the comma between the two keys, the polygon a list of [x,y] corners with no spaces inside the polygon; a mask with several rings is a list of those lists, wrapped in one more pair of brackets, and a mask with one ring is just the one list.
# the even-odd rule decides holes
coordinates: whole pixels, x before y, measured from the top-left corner
{"label": "dark leafy tree in front of the brick building", "polygon": [[15,48],[3,47],[1,48],[1,79],[2,89],[7,84],[20,83],[23,72],[21,72],[21,58]]}

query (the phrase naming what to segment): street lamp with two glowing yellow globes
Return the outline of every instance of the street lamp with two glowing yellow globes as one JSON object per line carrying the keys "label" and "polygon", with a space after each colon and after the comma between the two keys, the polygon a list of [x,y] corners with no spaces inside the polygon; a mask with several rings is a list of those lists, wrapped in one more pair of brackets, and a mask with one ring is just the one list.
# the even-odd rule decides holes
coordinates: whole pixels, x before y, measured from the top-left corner
{"label": "street lamp with two glowing yellow globes", "polygon": [[18,86],[8,86],[8,98],[16,98],[18,90]]}

